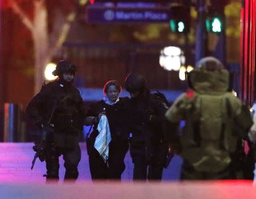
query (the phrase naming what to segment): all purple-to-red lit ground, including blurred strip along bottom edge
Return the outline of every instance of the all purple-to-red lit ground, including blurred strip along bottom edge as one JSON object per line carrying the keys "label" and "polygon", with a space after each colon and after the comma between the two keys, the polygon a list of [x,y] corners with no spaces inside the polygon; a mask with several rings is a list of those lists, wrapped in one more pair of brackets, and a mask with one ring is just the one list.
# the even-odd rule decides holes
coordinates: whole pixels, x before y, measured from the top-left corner
{"label": "all purple-to-red lit ground, including blurred strip along bottom edge", "polygon": [[99,181],[90,179],[88,155],[85,143],[81,146],[79,178],[75,183],[63,182],[64,167],[60,157],[59,183],[46,183],[45,163],[36,161],[30,169],[34,157],[33,143],[0,143],[0,199],[37,199],[37,198],[139,198],[139,199],[233,199],[256,198],[253,181],[179,181],[182,159],[174,156],[163,180],[157,182],[132,182],[133,163],[129,152],[125,157],[126,169],[122,182]]}

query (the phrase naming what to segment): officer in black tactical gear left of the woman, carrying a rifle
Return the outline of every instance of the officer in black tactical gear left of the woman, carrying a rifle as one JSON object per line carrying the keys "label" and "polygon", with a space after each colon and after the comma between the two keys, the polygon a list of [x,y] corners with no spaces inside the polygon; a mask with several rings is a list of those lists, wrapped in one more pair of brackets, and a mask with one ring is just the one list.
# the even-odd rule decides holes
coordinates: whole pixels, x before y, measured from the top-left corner
{"label": "officer in black tactical gear left of the woman, carrying a rifle", "polygon": [[47,180],[59,179],[59,156],[65,161],[64,179],[77,179],[77,166],[81,159],[79,132],[82,130],[85,110],[79,90],[73,85],[76,67],[67,60],[61,60],[54,76],[59,78],[42,86],[42,89],[28,103],[26,112],[35,124],[42,128],[51,123],[53,132],[47,135],[44,159]]}

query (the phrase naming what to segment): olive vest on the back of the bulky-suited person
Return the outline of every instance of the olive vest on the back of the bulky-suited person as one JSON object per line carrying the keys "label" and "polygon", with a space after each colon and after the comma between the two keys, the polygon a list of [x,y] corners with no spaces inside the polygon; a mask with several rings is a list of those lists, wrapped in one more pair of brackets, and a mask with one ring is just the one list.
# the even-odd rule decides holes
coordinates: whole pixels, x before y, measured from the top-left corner
{"label": "olive vest on the back of the bulky-suited person", "polygon": [[231,163],[230,152],[236,150],[238,136],[232,131],[234,110],[230,95],[195,92],[187,99],[181,155],[196,171],[220,172]]}

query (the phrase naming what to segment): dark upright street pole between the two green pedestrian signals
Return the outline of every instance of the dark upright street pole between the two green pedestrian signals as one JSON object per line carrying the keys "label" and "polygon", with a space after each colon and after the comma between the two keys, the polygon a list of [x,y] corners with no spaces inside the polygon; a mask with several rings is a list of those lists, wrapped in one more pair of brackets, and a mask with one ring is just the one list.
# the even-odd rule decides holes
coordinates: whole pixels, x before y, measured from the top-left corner
{"label": "dark upright street pole between the two green pedestrian signals", "polygon": [[207,5],[205,0],[197,0],[197,26],[196,26],[196,53],[195,61],[199,61],[206,55],[207,32],[205,26]]}

